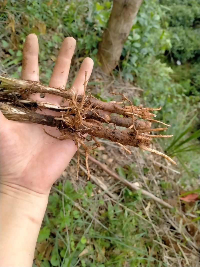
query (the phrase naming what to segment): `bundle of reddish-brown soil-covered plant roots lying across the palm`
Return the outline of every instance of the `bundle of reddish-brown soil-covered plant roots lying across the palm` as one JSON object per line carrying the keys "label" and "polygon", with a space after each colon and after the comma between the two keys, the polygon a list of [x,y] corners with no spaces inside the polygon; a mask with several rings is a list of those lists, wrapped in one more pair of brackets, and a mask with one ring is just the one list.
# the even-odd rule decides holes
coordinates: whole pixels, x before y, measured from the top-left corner
{"label": "bundle of reddish-brown soil-covered plant roots lying across the palm", "polygon": [[[151,138],[169,138],[172,136],[150,134],[152,131],[167,129],[167,127],[151,129],[151,122],[170,126],[152,118],[156,116],[152,112],[161,109],[161,107],[135,107],[121,93],[119,94],[122,96],[122,100],[129,102],[130,105],[124,105],[123,102],[106,103],[100,101],[90,94],[86,95],[86,76],[87,72],[85,74],[83,95],[77,95],[73,91],[52,88],[35,81],[23,81],[0,76],[0,109],[9,120],[29,121],[56,127],[59,129],[60,135],[55,138],[59,140],[73,139],[77,147],[78,143],[82,144],[86,152],[88,178],[87,156],[91,147],[87,147],[83,143],[83,140],[86,139],[83,136],[84,134],[89,134],[91,136],[90,140],[95,140],[97,147],[100,146],[100,143],[96,140],[96,137],[105,138],[120,144],[129,154],[131,152],[125,147],[127,145],[151,151],[176,164],[167,155],[150,148]],[[34,93],[45,93],[62,97],[64,101],[68,101],[68,106],[33,101],[30,95]],[[45,111],[45,109],[55,111],[54,115],[46,115],[45,112],[38,113],[38,110]],[[106,115],[105,111],[117,115]],[[108,127],[109,124],[113,126]]]}

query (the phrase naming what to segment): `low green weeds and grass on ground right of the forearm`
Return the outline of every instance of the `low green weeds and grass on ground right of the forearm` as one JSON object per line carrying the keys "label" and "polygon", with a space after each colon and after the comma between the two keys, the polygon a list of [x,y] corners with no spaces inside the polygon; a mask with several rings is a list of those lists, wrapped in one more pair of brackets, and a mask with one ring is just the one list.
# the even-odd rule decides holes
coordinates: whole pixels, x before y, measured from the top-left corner
{"label": "low green weeds and grass on ground right of the forearm", "polygon": [[[161,266],[147,249],[150,245],[152,252],[159,250],[149,237],[151,224],[141,220],[139,215],[144,219],[145,216],[134,208],[141,203],[141,197],[122,195],[120,203],[125,206],[122,209],[104,193],[92,196],[91,188],[94,185],[88,181],[84,189],[80,186],[75,191],[71,182],[66,181],[52,190],[38,237],[40,242],[48,239],[54,244],[51,266],[122,266],[125,261],[130,266]],[[74,205],[80,201],[79,207]],[[38,255],[38,258],[44,262],[41,266],[50,266],[45,257]]]}

